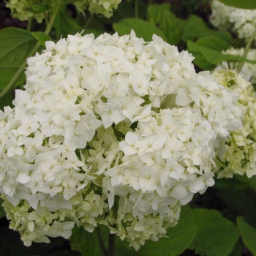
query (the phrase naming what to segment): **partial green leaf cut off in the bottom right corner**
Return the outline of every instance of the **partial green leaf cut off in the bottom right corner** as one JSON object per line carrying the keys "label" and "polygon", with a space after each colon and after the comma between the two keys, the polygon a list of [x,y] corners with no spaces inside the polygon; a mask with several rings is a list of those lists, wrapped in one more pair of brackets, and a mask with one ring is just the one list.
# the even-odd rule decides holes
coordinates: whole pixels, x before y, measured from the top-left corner
{"label": "partial green leaf cut off in the bottom right corner", "polygon": [[256,229],[252,227],[244,220],[243,217],[236,219],[238,229],[241,233],[241,238],[245,246],[252,252],[252,255],[256,255]]}

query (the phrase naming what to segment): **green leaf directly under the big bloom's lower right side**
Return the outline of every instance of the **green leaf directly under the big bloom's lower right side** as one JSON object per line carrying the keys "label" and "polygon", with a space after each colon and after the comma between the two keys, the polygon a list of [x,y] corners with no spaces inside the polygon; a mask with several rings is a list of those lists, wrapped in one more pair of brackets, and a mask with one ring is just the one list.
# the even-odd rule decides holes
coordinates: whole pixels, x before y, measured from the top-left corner
{"label": "green leaf directly under the big bloom's lower right side", "polygon": [[181,208],[178,225],[167,230],[167,238],[159,241],[147,241],[139,250],[140,256],[175,256],[181,255],[195,237],[195,224],[189,206]]}

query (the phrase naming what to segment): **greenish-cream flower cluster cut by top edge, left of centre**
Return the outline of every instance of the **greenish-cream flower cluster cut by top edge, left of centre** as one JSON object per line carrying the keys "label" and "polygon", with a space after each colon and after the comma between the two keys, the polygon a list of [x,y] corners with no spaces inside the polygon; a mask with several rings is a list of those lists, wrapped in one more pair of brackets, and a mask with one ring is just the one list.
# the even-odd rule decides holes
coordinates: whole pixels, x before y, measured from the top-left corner
{"label": "greenish-cream flower cluster cut by top edge, left of centre", "polygon": [[91,13],[110,18],[113,15],[113,10],[116,10],[120,3],[121,0],[78,0],[73,4],[80,12],[89,10]]}

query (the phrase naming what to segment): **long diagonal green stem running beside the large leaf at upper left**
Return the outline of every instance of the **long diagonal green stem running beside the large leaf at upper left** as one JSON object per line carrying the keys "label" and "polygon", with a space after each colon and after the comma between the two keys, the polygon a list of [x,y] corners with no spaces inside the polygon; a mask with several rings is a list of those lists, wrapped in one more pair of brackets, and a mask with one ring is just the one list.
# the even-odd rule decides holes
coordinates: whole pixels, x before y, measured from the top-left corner
{"label": "long diagonal green stem running beside the large leaf at upper left", "polygon": [[[56,7],[53,9],[53,14],[50,17],[48,26],[45,29],[45,34],[49,34],[51,29],[53,28],[53,22],[56,18],[57,13],[59,12],[59,8],[61,7],[62,4],[62,0],[58,0],[56,1]],[[31,52],[29,53],[29,55],[26,57],[26,59],[28,59],[31,56],[34,56],[34,54],[37,52],[37,50],[40,47],[40,43],[37,42],[37,44],[34,46],[34,48],[31,50]],[[1,91],[0,93],[0,99],[2,99],[11,89],[12,87],[15,85],[15,83],[17,82],[17,80],[20,78],[20,75],[23,73],[24,68],[26,67],[26,59],[23,61],[23,63],[20,65],[20,67],[18,68],[18,70],[15,72],[15,75],[12,77],[12,80],[10,80],[10,83],[8,83],[8,85],[4,88],[3,91]]]}

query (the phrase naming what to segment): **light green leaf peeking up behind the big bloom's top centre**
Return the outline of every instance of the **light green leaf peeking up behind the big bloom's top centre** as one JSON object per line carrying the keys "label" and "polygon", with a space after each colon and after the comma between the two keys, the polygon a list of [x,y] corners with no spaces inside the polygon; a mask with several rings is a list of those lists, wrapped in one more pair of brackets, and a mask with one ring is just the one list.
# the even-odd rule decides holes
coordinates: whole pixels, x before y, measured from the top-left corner
{"label": "light green leaf peeking up behind the big bloom's top centre", "polygon": [[151,41],[153,34],[157,34],[166,40],[165,34],[154,24],[138,18],[124,18],[118,23],[113,23],[113,29],[120,35],[130,34],[133,29],[137,37],[143,37],[145,41]]}

